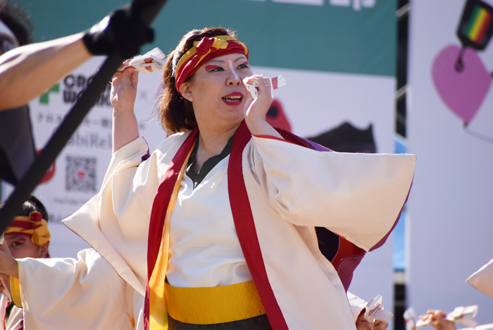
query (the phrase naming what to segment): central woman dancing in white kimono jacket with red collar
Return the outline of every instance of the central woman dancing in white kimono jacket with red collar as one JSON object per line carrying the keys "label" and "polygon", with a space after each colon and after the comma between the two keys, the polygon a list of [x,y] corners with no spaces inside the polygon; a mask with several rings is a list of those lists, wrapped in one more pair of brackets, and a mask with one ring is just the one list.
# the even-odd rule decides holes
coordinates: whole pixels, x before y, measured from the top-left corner
{"label": "central woman dancing in white kimono jacket with red collar", "polygon": [[[145,297],[146,329],[355,329],[314,226],[356,255],[380,246],[415,157],[318,152],[278,132],[265,120],[270,80],[252,75],[248,56],[228,30],[182,38],[163,73],[170,136],[152,154],[132,111],[137,73],[113,80],[111,164],[100,193],[64,223]],[[41,298],[22,288],[35,268],[19,261],[32,306]]]}

